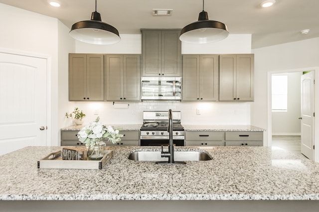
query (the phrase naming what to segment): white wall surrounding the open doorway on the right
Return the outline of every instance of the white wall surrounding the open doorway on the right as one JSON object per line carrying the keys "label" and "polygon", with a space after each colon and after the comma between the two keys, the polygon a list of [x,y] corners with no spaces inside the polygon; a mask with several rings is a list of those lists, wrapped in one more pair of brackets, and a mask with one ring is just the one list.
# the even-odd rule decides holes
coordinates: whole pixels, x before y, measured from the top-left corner
{"label": "white wall surrounding the open doorway on the right", "polygon": [[[255,54],[255,102],[251,103],[251,124],[268,128],[268,72],[319,66],[318,47],[319,38],[313,38],[252,49]],[[269,145],[267,133],[264,133],[264,141]]]}

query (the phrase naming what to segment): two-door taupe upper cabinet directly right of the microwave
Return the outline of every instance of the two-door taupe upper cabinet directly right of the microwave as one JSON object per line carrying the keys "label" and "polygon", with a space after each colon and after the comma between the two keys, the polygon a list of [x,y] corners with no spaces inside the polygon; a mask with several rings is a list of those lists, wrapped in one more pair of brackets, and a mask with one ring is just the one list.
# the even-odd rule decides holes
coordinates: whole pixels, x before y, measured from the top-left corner
{"label": "two-door taupe upper cabinet directly right of the microwave", "polygon": [[218,55],[183,55],[183,101],[218,101]]}

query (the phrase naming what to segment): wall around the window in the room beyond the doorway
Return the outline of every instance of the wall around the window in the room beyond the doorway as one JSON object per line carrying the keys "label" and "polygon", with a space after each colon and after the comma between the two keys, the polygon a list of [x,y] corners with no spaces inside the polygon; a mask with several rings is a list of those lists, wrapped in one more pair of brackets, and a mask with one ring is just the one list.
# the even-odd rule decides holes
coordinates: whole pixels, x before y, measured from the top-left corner
{"label": "wall around the window in the room beyond the doorway", "polygon": [[302,72],[284,73],[288,76],[287,111],[272,112],[273,135],[300,135],[301,122],[301,76]]}

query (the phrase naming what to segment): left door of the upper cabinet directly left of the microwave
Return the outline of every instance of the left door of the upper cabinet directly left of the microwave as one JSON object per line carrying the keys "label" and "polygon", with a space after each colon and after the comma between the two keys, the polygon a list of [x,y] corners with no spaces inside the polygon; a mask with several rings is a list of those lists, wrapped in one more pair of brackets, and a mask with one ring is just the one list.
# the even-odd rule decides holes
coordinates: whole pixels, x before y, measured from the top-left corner
{"label": "left door of the upper cabinet directly left of the microwave", "polygon": [[123,55],[106,55],[106,100],[123,99]]}

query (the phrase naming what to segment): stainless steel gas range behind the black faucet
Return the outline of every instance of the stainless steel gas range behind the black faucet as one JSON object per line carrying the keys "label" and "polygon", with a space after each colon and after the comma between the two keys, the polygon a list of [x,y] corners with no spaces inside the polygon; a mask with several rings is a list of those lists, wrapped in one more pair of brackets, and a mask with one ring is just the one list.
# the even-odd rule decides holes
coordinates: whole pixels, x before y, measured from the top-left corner
{"label": "stainless steel gas range behind the black faucet", "polygon": [[[180,124],[180,111],[172,111],[173,144],[184,146],[184,127]],[[168,145],[168,111],[144,111],[141,126],[141,146]]]}

